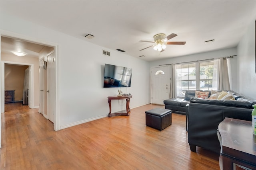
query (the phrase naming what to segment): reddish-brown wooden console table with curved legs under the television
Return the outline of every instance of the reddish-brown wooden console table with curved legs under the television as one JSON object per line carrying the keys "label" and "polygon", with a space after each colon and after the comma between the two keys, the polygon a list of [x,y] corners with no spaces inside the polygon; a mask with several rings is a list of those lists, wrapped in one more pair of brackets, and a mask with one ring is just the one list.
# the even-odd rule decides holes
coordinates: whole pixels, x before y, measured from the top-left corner
{"label": "reddish-brown wooden console table with curved legs under the television", "polygon": [[[108,105],[109,105],[109,113],[108,117],[111,117],[112,115],[126,115],[129,116],[129,111],[130,110],[130,98],[132,98],[132,95],[129,96],[108,96]],[[116,112],[116,113],[111,113],[111,100],[126,100],[126,110]]]}

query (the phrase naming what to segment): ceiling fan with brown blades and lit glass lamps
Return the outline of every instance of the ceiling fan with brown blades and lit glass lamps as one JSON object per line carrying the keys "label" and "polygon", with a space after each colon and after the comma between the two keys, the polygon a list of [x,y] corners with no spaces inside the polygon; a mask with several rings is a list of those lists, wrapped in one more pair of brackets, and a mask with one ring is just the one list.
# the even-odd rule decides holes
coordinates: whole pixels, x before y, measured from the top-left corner
{"label": "ceiling fan with brown blades and lit glass lamps", "polygon": [[[177,36],[177,34],[175,34],[175,33],[171,33],[168,36],[165,36],[164,33],[160,33],[160,34],[154,35],[154,41],[140,41],[140,42],[155,43],[155,45],[151,45],[149,47],[153,47],[154,50],[158,50],[158,51],[162,52],[166,48],[166,45],[184,45],[184,44],[186,44],[186,41],[168,42],[169,39],[172,39],[173,37],[176,37],[176,36]],[[144,49],[147,49],[149,47],[146,47]],[[142,51],[144,49],[141,49],[140,51]]]}

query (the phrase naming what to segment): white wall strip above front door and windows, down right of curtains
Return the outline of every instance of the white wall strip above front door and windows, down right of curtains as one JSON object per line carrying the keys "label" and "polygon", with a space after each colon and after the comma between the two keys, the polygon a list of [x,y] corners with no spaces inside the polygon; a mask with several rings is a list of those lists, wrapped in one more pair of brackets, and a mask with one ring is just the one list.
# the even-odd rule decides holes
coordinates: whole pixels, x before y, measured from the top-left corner
{"label": "white wall strip above front door and windows, down right of curtains", "polygon": [[[199,61],[204,59],[215,59],[220,57],[228,57],[231,55],[237,55],[237,51],[235,47],[229,48],[229,49],[217,50],[217,51],[210,51],[205,53],[186,55],[182,57],[173,57],[173,58],[164,59],[164,60],[152,61],[150,62],[150,67],[159,66],[162,64],[175,64],[175,63],[183,63],[183,62],[190,62],[190,61]],[[231,59],[232,90],[234,90],[235,92],[237,91],[236,61],[237,61],[236,56],[233,59]]]}

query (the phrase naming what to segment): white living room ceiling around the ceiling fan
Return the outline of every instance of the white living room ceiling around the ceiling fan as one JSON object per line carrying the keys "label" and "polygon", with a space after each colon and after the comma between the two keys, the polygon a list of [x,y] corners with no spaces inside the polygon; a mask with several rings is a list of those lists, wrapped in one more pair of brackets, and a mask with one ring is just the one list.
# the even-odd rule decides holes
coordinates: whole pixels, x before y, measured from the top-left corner
{"label": "white living room ceiling around the ceiling fan", "polygon": [[[256,18],[256,0],[1,0],[8,13],[107,49],[153,61],[236,47]],[[148,48],[157,33],[178,36],[160,53]],[[87,34],[94,35],[87,39]],[[215,39],[214,43],[204,41]],[[3,51],[3,49],[2,49]]]}

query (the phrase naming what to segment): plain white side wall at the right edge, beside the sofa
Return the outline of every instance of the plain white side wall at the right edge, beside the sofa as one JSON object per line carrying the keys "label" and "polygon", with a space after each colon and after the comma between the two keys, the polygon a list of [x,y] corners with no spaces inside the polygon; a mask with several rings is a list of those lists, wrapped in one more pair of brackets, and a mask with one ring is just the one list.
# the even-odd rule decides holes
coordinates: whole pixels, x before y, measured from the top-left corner
{"label": "plain white side wall at the right edge, beside the sofa", "polygon": [[250,23],[248,30],[238,44],[237,51],[238,92],[248,98],[256,99],[254,20]]}

